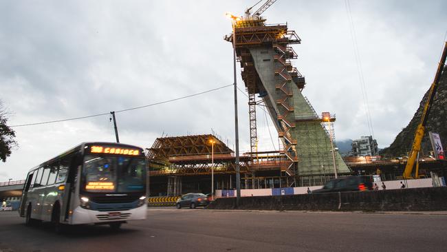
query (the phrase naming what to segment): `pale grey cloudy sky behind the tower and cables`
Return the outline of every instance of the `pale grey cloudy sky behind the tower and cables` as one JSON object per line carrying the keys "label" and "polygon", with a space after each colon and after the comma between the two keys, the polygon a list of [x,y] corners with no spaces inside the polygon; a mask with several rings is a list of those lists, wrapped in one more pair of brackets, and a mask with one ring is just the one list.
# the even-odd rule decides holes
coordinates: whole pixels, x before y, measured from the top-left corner
{"label": "pale grey cloudy sky behind the tower and cables", "polygon": [[[0,99],[9,124],[89,116],[232,83],[228,11],[257,1],[0,1]],[[350,1],[373,132],[388,146],[428,89],[447,30],[446,1]],[[279,0],[268,23],[301,37],[294,65],[318,113],[336,114],[336,138],[369,135],[345,0]],[[238,69],[239,72],[239,69]],[[238,74],[238,85],[244,90]],[[239,92],[240,149],[249,144]],[[168,134],[219,134],[234,147],[232,87],[116,114],[120,141],[151,147]],[[277,134],[258,109],[259,149]],[[270,119],[269,119],[270,120]],[[270,126],[269,126],[270,125]],[[270,138],[270,132],[273,139]],[[14,127],[19,148],[0,162],[0,182],[83,141],[113,141],[109,116]],[[273,146],[273,144],[276,146]]]}

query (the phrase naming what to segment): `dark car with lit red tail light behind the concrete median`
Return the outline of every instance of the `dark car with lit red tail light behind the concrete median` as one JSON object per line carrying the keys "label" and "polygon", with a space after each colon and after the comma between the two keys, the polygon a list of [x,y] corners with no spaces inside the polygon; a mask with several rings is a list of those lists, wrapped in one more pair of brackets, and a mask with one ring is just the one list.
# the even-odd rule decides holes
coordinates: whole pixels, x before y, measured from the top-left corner
{"label": "dark car with lit red tail light behind the concrete median", "polygon": [[312,193],[331,193],[334,191],[367,191],[373,189],[371,176],[349,176],[329,180],[322,189],[316,189]]}

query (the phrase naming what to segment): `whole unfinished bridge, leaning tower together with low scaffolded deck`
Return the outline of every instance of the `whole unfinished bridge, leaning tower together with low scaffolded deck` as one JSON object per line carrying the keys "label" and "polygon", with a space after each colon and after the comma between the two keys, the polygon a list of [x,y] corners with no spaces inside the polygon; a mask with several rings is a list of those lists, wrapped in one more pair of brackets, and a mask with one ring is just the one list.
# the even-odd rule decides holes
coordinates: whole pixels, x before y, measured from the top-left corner
{"label": "whole unfinished bridge, leaning tower together with low scaffolded deck", "polygon": [[[250,152],[240,159],[241,188],[298,187],[309,185],[309,180],[321,184],[335,174],[351,174],[334,150],[335,116],[318,116],[301,93],[305,77],[291,62],[297,58],[291,45],[301,39],[287,24],[267,24],[259,10],[247,12],[233,19],[233,32],[225,36],[234,46],[248,93]],[[267,108],[281,140],[278,151],[257,151],[259,105]],[[216,144],[210,144],[214,140]],[[157,138],[147,156],[155,194],[210,192],[212,172],[217,176],[215,189],[235,185],[234,152],[212,135]]]}

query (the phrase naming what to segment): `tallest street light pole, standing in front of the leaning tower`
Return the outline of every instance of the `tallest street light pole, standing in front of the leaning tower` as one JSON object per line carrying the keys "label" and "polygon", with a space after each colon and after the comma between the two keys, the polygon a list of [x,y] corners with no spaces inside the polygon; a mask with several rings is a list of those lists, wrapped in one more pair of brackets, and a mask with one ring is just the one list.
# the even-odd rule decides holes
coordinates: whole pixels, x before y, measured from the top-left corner
{"label": "tallest street light pole, standing in front of the leaning tower", "polygon": [[239,206],[239,200],[241,199],[241,174],[239,167],[239,127],[237,118],[237,78],[236,78],[236,22],[241,20],[240,17],[236,17],[233,14],[226,13],[226,16],[232,19],[232,42],[233,42],[233,76],[235,78],[235,170],[236,170],[236,207]]}

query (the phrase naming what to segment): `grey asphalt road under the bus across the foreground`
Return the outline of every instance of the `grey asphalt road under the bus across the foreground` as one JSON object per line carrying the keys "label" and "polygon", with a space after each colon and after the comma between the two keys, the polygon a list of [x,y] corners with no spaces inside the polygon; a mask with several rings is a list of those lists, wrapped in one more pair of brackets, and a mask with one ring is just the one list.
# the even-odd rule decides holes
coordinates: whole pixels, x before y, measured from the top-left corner
{"label": "grey asphalt road under the bus across the foreground", "polygon": [[0,251],[447,251],[447,215],[150,209],[121,230],[25,227],[0,212]]}

